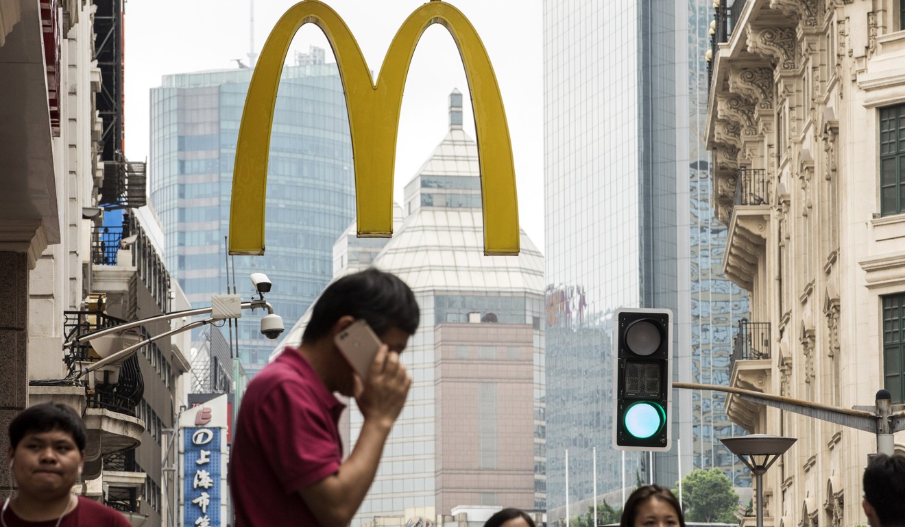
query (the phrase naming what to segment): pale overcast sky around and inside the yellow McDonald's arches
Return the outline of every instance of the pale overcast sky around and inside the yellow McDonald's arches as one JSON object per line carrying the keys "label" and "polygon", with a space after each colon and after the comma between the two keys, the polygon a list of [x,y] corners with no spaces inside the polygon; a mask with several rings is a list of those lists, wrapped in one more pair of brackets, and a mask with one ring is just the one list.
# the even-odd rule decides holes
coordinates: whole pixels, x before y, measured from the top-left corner
{"label": "pale overcast sky around and inside the yellow McDonald's arches", "polygon": [[[422,3],[327,0],[355,35],[375,78],[399,25]],[[521,227],[543,251],[541,2],[450,3],[472,21],[491,57],[509,119]],[[286,0],[254,3],[255,52],[261,51],[273,24],[293,4]],[[233,59],[247,63],[251,10],[249,0],[127,0],[125,9],[126,155],[140,161],[148,157],[149,90],[159,86],[165,74],[234,68]],[[325,48],[327,61],[334,61],[326,37],[314,24],[300,29],[292,49],[308,52],[310,45]],[[402,202],[403,186],[446,134],[447,97],[453,88],[467,92],[462,61],[448,31],[434,24],[418,44],[405,84],[396,147],[396,202]],[[464,127],[473,138],[471,104],[468,97],[463,99]]]}

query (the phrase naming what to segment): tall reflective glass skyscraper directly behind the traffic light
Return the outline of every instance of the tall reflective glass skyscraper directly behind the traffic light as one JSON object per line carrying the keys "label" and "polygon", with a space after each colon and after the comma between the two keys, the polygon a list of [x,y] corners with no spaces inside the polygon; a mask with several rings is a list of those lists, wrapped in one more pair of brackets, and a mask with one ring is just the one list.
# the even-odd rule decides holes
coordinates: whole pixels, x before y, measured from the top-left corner
{"label": "tall reflective glass skyscraper directly behind the traffic light", "polygon": [[692,462],[731,471],[712,436],[731,426],[707,392],[673,391],[672,451],[623,462],[611,447],[614,310],[671,308],[674,379],[725,382],[745,308],[717,276],[725,231],[700,203],[709,5],[544,2],[550,521],[593,501],[594,450],[598,494],[675,485]]}

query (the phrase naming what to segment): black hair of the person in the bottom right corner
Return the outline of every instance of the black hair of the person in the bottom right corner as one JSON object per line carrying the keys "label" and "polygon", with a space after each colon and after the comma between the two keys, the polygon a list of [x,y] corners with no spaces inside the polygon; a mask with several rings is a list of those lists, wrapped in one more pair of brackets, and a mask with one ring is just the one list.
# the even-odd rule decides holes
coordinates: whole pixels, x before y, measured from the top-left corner
{"label": "black hair of the person in the bottom right corner", "polygon": [[877,454],[864,470],[864,499],[883,527],[905,525],[905,456]]}

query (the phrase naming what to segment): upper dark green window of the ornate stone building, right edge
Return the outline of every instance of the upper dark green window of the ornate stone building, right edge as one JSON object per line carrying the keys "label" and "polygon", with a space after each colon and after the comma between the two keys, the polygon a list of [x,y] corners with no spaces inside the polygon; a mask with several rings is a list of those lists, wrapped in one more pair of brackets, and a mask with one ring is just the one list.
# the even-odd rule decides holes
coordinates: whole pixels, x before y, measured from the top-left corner
{"label": "upper dark green window of the ornate stone building, right edge", "polygon": [[880,212],[905,212],[905,104],[880,108]]}

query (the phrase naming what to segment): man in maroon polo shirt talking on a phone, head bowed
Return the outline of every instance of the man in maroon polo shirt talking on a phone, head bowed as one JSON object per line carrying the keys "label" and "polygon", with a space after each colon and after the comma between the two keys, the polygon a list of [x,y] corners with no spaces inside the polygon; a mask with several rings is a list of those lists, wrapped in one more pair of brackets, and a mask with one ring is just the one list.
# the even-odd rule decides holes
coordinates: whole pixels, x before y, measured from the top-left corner
{"label": "man in maroon polo shirt talking on a phone, head bowed", "polygon": [[[412,290],[369,268],[330,284],[298,348],[287,347],[249,383],[230,460],[235,526],[348,525],[365,499],[412,383],[399,353],[418,327]],[[361,379],[334,337],[365,319],[384,343]],[[355,397],[364,422],[345,462],[337,422]]]}

